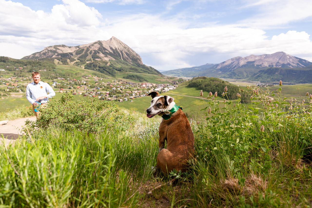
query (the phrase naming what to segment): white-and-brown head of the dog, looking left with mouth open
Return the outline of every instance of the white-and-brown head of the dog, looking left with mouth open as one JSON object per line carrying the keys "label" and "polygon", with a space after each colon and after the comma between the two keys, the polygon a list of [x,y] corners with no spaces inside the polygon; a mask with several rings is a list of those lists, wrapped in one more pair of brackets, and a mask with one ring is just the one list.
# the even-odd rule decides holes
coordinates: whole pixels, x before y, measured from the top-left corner
{"label": "white-and-brown head of the dog, looking left with mouth open", "polygon": [[151,106],[149,106],[149,108],[146,110],[146,116],[149,118],[154,117],[161,111],[168,111],[175,105],[175,102],[173,102],[173,97],[159,95],[158,92],[151,92],[149,93],[149,96],[152,97]]}

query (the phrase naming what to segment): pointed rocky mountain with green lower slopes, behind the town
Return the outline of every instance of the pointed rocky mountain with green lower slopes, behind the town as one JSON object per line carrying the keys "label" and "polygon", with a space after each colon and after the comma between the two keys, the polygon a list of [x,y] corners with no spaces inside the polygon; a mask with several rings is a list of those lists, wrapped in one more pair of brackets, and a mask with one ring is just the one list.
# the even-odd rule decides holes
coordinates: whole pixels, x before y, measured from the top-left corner
{"label": "pointed rocky mountain with green lower slopes, behind the town", "polygon": [[115,76],[115,71],[161,74],[153,67],[143,64],[139,54],[129,46],[111,37],[107,41],[96,41],[80,46],[55,45],[45,47],[22,59],[39,60],[55,58],[62,64],[73,62],[84,65],[86,69],[100,71]]}

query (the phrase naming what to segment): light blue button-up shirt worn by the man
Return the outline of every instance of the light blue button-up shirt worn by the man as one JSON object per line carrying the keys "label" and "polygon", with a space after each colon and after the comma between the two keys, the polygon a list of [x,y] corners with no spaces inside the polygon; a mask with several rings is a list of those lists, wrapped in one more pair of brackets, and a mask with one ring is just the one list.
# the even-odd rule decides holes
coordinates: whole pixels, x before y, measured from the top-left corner
{"label": "light blue button-up shirt worn by the man", "polygon": [[[47,92],[50,94],[48,95]],[[35,82],[29,83],[26,87],[26,98],[32,104],[36,102],[38,97],[46,96],[47,98],[41,99],[41,103],[48,102],[48,98],[55,96],[55,92],[52,87],[46,83],[39,81],[38,84]]]}

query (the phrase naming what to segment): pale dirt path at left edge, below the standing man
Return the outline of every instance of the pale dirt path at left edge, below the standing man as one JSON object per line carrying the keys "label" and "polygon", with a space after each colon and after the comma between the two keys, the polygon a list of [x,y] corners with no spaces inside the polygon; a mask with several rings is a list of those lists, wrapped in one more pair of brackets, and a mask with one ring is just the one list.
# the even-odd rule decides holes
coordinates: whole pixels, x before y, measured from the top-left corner
{"label": "pale dirt path at left edge, below the standing man", "polygon": [[[25,121],[29,119],[30,121],[36,121],[36,116],[28,118],[19,118],[13,121],[8,121],[7,124],[0,126],[0,144],[5,142],[6,145],[14,144],[19,135],[22,135],[22,126],[24,126]],[[2,137],[3,135],[3,137]],[[3,141],[4,140],[4,141]]]}

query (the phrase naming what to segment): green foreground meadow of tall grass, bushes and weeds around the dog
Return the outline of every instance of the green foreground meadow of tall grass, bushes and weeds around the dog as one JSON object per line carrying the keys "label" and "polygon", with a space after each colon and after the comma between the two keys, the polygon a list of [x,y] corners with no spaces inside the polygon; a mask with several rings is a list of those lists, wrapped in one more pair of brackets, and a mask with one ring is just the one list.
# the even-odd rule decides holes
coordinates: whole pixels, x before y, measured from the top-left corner
{"label": "green foreground meadow of tall grass, bushes and weeds around the dog", "polygon": [[247,107],[199,100],[196,160],[169,175],[153,174],[159,116],[65,93],[24,139],[1,146],[1,207],[310,207],[312,100],[290,105],[278,87],[271,102],[251,87]]}

